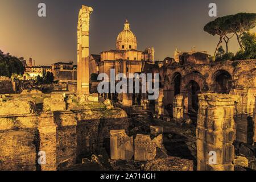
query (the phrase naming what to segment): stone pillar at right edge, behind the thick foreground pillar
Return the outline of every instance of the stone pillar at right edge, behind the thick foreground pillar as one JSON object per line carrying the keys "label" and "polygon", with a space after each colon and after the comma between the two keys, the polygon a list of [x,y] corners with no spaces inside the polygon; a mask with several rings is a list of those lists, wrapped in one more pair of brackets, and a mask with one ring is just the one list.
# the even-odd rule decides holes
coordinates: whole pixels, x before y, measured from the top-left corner
{"label": "stone pillar at right edge, behind the thick foreground pillar", "polygon": [[255,107],[256,89],[234,89],[232,94],[238,95],[236,115],[236,141],[246,144],[254,143],[253,112]]}

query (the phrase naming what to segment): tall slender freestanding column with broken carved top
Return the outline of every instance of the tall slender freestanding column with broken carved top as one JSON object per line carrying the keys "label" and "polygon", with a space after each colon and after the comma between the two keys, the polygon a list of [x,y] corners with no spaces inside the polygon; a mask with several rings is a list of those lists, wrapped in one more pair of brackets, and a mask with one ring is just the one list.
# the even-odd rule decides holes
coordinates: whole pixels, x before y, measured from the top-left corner
{"label": "tall slender freestanding column with broken carved top", "polygon": [[89,22],[92,7],[82,6],[77,26],[77,93],[89,94]]}

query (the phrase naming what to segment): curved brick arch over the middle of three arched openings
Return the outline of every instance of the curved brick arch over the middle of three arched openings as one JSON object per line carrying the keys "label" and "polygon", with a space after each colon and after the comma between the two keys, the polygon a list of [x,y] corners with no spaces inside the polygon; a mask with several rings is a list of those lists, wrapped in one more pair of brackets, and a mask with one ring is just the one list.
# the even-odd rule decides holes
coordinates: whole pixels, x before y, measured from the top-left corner
{"label": "curved brick arch over the middle of three arched openings", "polygon": [[181,78],[181,88],[183,90],[186,90],[187,85],[189,84],[190,81],[197,82],[197,84],[199,84],[199,86],[200,86],[201,92],[206,92],[209,90],[209,86],[208,86],[204,76],[201,75],[201,73],[199,73],[197,71],[191,72]]}

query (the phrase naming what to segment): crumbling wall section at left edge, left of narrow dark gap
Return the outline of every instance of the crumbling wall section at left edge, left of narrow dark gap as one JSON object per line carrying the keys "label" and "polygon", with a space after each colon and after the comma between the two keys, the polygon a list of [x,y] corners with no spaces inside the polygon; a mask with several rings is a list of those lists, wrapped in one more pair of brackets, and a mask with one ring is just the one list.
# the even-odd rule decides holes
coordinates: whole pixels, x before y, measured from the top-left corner
{"label": "crumbling wall section at left edge, left of narrow dark gap", "polygon": [[0,102],[0,170],[36,170],[34,107],[31,99]]}

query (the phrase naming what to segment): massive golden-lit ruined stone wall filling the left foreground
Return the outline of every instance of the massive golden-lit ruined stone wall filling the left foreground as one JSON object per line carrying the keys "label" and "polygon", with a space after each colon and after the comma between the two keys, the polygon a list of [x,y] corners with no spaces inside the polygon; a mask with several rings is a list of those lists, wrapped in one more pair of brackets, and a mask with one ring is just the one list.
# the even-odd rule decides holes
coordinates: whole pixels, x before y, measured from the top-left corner
{"label": "massive golden-lit ruined stone wall filling the left foreground", "polygon": [[[110,130],[129,127],[127,114],[121,109],[106,110],[102,104],[89,102],[82,104],[87,109],[54,110],[50,104],[40,114],[35,113],[36,97],[22,97],[0,102],[0,170],[68,168],[97,151],[110,153]],[[47,98],[44,104],[49,105]],[[39,165],[42,151],[46,164]]]}

